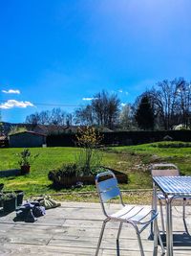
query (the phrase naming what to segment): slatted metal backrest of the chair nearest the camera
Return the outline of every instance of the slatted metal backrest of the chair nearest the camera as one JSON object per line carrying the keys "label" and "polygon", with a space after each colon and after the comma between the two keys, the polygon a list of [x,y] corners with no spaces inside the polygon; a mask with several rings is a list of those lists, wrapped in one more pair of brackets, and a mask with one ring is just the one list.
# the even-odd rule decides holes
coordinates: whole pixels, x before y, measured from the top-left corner
{"label": "slatted metal backrest of the chair nearest the camera", "polygon": [[104,172],[96,175],[96,190],[100,199],[102,210],[108,216],[105,203],[113,198],[119,198],[123,204],[120,190],[118,188],[117,177],[111,172]]}

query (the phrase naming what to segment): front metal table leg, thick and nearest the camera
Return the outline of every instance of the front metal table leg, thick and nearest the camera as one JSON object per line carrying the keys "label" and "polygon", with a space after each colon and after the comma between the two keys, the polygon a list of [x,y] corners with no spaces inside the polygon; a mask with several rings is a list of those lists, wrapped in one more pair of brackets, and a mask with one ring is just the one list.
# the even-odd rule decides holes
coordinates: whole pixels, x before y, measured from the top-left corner
{"label": "front metal table leg, thick and nearest the camera", "polygon": [[172,199],[166,198],[166,250],[167,256],[173,256],[173,230],[172,230]]}

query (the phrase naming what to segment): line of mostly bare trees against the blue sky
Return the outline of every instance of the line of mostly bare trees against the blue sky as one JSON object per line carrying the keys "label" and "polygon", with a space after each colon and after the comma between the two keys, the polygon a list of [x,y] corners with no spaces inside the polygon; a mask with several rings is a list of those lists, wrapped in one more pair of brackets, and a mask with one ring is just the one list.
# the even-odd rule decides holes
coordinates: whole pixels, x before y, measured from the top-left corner
{"label": "line of mostly bare trees against the blue sky", "polygon": [[135,103],[121,105],[117,94],[107,91],[94,95],[90,104],[73,113],[61,108],[35,112],[27,116],[33,125],[83,125],[110,129],[172,129],[191,125],[191,82],[184,79],[159,81],[141,93]]}

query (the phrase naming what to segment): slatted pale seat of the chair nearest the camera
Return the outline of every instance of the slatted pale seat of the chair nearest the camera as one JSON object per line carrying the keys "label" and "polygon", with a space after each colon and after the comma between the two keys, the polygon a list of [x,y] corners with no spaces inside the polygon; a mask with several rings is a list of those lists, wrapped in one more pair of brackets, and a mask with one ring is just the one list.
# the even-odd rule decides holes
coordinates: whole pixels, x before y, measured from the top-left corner
{"label": "slatted pale seat of the chair nearest the camera", "polygon": [[121,221],[135,221],[139,224],[151,221],[151,213],[152,216],[157,215],[152,210],[149,210],[142,206],[130,206],[126,205],[116,213],[109,215],[111,219],[115,221],[115,219]]}

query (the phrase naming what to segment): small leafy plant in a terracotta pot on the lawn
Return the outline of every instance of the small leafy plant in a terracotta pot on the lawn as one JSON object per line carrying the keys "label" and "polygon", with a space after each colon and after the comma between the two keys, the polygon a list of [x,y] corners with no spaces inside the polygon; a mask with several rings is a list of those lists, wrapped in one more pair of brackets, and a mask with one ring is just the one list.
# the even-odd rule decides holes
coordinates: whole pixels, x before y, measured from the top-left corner
{"label": "small leafy plant in a terracotta pot on the lawn", "polygon": [[24,149],[20,153],[17,153],[17,156],[20,158],[18,164],[20,165],[21,175],[29,174],[32,161],[38,156],[38,153],[32,156],[29,149]]}

